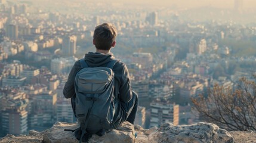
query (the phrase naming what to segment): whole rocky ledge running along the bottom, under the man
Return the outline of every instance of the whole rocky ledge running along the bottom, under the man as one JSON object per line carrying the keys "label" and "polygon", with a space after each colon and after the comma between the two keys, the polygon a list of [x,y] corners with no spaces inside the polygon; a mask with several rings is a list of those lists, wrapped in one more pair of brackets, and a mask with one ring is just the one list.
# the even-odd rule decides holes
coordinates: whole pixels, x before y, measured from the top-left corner
{"label": "whole rocky ledge running along the bottom, under the man", "polygon": [[[29,135],[7,135],[0,139],[4,142],[78,142],[73,132],[64,129],[76,129],[75,123],[57,122],[44,132],[30,130]],[[136,135],[135,135],[136,134]],[[173,142],[173,143],[208,143],[208,142],[255,142],[256,132],[227,132],[212,123],[196,123],[193,125],[174,126],[166,123],[160,128],[143,129],[138,125],[123,123],[118,130],[112,130],[104,136],[92,135],[89,142]]]}

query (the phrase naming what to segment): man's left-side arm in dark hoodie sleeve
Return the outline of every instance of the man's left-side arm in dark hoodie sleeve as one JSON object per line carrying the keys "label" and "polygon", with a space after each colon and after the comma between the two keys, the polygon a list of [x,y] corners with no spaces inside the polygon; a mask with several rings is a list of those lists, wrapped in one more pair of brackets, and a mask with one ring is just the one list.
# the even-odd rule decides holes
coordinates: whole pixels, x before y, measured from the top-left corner
{"label": "man's left-side arm in dark hoodie sleeve", "polygon": [[71,98],[75,95],[75,76],[76,73],[81,69],[81,65],[79,60],[75,62],[74,66],[72,67],[69,77],[67,77],[67,82],[63,88],[63,95],[65,98]]}

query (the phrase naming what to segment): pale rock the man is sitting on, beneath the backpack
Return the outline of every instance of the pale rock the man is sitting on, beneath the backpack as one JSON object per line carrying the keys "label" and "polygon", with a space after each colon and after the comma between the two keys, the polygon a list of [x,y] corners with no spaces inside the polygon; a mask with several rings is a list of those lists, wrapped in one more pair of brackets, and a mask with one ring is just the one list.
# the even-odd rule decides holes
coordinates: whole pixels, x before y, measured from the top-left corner
{"label": "pale rock the man is sitting on, beneath the backpack", "polygon": [[[76,129],[78,124],[76,123],[60,123],[57,122],[52,128],[45,130],[44,142],[45,143],[64,143],[64,142],[78,142],[73,132],[64,132],[64,129]],[[89,142],[135,142],[134,126],[129,122],[124,122],[118,130],[112,130],[106,133],[104,136],[92,135]]]}

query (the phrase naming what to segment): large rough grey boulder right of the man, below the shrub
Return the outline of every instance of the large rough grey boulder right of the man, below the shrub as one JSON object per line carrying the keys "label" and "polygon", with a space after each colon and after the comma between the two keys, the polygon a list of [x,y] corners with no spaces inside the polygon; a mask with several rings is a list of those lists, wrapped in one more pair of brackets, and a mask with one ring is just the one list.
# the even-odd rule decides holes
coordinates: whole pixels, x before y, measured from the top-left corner
{"label": "large rough grey boulder right of the man, below the shrub", "polygon": [[196,123],[193,125],[164,124],[155,132],[149,135],[149,141],[153,142],[234,142],[233,136],[224,129],[218,128],[212,123]]}

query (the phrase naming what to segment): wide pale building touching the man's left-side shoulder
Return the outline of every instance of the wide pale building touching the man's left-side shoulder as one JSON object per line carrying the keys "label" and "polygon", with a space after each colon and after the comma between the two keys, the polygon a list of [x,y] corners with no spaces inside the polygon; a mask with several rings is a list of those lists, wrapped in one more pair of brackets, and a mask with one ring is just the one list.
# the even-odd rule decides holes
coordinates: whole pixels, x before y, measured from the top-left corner
{"label": "wide pale building touching the man's left-side shoulder", "polygon": [[75,57],[55,58],[51,60],[51,73],[69,73],[76,60],[78,59]]}

